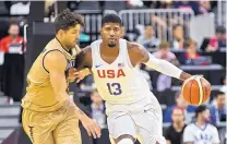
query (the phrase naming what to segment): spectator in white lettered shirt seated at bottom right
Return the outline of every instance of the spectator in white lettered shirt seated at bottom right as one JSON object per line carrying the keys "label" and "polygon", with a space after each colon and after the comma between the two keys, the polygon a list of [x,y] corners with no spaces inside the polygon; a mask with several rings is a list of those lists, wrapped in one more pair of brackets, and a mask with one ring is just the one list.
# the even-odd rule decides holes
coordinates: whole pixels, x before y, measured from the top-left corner
{"label": "spectator in white lettered shirt seated at bottom right", "polygon": [[186,144],[219,144],[217,129],[210,124],[210,110],[206,106],[195,109],[195,123],[189,124],[183,132]]}

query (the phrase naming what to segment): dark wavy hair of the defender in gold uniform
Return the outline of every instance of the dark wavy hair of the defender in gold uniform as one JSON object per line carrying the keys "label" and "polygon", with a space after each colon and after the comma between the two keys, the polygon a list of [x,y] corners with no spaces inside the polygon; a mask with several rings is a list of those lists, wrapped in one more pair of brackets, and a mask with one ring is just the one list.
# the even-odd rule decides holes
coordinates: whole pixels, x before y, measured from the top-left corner
{"label": "dark wavy hair of the defender in gold uniform", "polygon": [[76,24],[84,25],[82,16],[80,14],[71,12],[70,9],[65,9],[55,20],[56,33],[59,29],[65,31]]}

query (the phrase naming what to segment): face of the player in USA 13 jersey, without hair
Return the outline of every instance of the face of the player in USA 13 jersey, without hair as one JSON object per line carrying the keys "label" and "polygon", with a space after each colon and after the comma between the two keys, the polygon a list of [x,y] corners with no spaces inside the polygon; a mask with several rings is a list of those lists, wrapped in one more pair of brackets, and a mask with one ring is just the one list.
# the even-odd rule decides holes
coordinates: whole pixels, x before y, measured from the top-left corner
{"label": "face of the player in USA 13 jersey, without hair", "polygon": [[115,47],[123,35],[123,27],[118,23],[106,23],[101,27],[100,34],[103,41],[108,44],[109,47]]}

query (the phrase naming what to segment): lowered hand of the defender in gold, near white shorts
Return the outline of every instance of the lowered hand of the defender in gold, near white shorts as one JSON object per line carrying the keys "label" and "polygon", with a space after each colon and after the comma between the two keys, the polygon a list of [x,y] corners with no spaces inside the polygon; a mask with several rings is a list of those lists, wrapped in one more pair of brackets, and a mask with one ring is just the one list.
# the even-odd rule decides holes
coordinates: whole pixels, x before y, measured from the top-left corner
{"label": "lowered hand of the defender in gold, near white shorts", "polygon": [[88,117],[81,119],[83,127],[86,129],[89,136],[93,135],[94,139],[100,137],[100,128],[98,124]]}

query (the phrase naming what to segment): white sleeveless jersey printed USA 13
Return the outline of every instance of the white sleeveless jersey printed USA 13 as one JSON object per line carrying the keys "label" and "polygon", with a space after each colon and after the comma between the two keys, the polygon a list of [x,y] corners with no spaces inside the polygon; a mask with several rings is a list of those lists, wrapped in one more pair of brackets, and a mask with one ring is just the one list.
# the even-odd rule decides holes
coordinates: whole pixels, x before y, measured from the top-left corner
{"label": "white sleeveless jersey printed USA 13", "polygon": [[133,68],[127,40],[120,39],[119,55],[112,63],[100,57],[101,39],[92,43],[93,75],[98,93],[109,104],[131,104],[153,96],[141,70]]}

